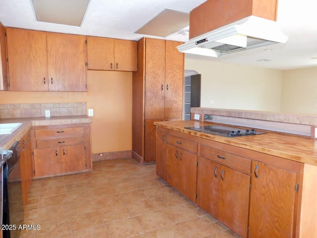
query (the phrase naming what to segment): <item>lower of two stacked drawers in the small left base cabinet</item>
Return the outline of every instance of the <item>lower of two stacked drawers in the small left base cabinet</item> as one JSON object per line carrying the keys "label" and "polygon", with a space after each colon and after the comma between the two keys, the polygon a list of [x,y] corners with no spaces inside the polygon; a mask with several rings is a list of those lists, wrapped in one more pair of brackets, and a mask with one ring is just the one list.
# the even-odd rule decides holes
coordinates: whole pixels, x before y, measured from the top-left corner
{"label": "lower of two stacked drawers in the small left base cabinet", "polygon": [[36,148],[66,146],[66,145],[81,145],[85,143],[84,137],[71,137],[71,138],[56,138],[49,140],[37,140]]}

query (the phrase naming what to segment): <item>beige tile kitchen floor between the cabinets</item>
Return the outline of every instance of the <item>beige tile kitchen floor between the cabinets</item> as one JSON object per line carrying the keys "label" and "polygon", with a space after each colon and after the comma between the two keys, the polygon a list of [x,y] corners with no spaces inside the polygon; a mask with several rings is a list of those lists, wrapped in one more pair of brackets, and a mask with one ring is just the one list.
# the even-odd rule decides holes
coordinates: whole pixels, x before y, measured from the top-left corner
{"label": "beige tile kitchen floor between the cabinets", "polygon": [[133,159],[93,172],[34,180],[23,238],[239,238]]}

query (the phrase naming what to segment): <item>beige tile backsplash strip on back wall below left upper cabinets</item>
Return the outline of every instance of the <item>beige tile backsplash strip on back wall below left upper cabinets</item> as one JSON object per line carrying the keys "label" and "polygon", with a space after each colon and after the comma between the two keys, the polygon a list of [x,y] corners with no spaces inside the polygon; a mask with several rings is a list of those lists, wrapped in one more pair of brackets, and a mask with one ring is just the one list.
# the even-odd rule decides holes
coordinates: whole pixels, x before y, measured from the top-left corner
{"label": "beige tile backsplash strip on back wall below left upper cabinets", "polygon": [[87,115],[86,103],[0,104],[0,119],[40,118],[46,110],[51,111],[51,117]]}

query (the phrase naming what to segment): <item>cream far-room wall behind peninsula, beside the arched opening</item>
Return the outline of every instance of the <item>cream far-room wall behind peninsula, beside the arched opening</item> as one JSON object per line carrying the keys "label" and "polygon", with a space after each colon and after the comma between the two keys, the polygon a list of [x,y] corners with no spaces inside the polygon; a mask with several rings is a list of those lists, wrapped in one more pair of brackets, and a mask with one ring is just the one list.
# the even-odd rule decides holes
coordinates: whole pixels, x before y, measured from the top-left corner
{"label": "cream far-room wall behind peninsula, beside the arched opening", "polygon": [[281,109],[280,70],[188,58],[185,69],[202,75],[201,107],[272,112]]}

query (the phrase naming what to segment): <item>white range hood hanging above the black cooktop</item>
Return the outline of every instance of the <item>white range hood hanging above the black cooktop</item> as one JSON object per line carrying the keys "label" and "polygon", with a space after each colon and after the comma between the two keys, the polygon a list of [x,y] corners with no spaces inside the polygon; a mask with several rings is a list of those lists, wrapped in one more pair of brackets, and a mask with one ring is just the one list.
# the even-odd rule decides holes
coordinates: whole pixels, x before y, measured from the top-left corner
{"label": "white range hood hanging above the black cooktop", "polygon": [[177,49],[182,53],[221,57],[271,44],[285,43],[287,39],[276,21],[249,16],[192,38]]}

